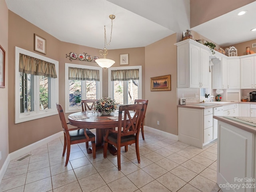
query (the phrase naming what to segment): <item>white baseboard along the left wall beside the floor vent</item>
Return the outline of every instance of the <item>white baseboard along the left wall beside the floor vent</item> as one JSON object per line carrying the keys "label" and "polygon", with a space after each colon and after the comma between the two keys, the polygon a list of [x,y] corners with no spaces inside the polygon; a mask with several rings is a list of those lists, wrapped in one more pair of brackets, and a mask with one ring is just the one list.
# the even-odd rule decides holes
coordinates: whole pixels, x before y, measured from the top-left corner
{"label": "white baseboard along the left wall beside the floor vent", "polygon": [[26,153],[30,153],[32,150],[37,149],[38,147],[47,144],[48,142],[51,142],[54,139],[60,138],[61,136],[63,136],[63,131],[60,131],[56,134],[53,134],[49,137],[46,137],[38,142],[32,143],[24,148],[21,148],[17,151],[14,151],[10,154],[8,154],[6,160],[4,161],[4,164],[2,166],[2,168],[0,169],[0,183],[2,182],[2,178],[4,177],[4,174],[8,168],[8,165],[10,163],[10,161],[26,154]]}

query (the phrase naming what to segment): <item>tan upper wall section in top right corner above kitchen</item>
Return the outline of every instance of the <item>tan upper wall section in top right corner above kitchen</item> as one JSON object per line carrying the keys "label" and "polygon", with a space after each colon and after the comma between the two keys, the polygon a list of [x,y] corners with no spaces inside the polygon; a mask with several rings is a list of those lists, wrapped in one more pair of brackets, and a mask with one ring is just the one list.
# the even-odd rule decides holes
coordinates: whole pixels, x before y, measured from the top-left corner
{"label": "tan upper wall section in top right corner above kitchen", "polygon": [[255,0],[190,0],[190,28],[254,1]]}

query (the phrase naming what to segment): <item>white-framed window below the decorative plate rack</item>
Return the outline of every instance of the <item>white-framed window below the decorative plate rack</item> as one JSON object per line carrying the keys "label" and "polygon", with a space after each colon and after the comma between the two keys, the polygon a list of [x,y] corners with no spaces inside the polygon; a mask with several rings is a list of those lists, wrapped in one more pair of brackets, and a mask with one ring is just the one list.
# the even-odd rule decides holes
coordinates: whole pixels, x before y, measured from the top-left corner
{"label": "white-framed window below the decorative plate rack", "polygon": [[[69,76],[69,70],[74,70],[74,78]],[[83,69],[98,70],[99,80],[77,80],[76,74],[81,73]],[[81,70],[81,71],[79,71]],[[87,71],[87,72],[88,72]],[[88,75],[88,74],[87,74]],[[84,79],[86,74],[82,75]],[[101,80],[101,81],[100,81]],[[65,105],[66,113],[81,111],[81,100],[99,99],[102,97],[102,68],[93,66],[84,66],[78,64],[65,64]]]}

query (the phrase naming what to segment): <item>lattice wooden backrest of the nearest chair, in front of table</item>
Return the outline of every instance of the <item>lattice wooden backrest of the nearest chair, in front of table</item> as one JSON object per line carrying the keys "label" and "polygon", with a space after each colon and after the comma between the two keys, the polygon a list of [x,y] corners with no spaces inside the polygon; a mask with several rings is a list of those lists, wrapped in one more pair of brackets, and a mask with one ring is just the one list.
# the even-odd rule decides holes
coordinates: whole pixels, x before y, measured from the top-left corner
{"label": "lattice wooden backrest of the nearest chair, in front of table", "polygon": [[[118,136],[137,134],[143,119],[144,104],[122,105],[118,114]],[[128,120],[128,121],[127,121]]]}

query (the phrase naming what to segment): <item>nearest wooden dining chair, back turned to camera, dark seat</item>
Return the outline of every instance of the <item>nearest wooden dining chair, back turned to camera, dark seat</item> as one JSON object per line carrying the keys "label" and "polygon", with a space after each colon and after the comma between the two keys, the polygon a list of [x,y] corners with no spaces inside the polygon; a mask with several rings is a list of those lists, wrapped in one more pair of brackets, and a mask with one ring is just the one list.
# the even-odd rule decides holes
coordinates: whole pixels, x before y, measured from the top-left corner
{"label": "nearest wooden dining chair, back turned to camera, dark seat", "polygon": [[117,165],[121,170],[121,147],[135,143],[138,163],[140,163],[139,133],[143,118],[144,104],[122,105],[118,112],[117,130],[108,129],[104,136],[103,156],[107,157],[108,143],[117,148]]}

